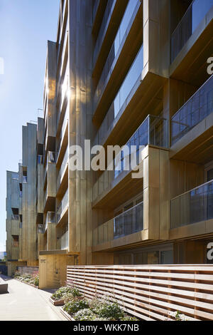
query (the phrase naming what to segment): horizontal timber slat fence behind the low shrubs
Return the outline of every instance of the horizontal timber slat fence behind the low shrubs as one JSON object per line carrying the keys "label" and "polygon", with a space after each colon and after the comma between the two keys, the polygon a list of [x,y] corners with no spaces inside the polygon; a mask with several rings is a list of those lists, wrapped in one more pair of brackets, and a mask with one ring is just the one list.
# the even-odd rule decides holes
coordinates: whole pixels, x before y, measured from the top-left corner
{"label": "horizontal timber slat fence behind the low shrubs", "polygon": [[213,320],[213,265],[68,266],[67,283],[85,297],[111,296],[143,320]]}

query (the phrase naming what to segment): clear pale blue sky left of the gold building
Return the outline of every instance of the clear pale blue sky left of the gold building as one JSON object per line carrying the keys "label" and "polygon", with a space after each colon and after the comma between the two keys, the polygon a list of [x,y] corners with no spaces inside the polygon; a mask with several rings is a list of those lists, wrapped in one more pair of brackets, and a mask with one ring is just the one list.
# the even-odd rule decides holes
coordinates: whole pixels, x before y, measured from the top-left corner
{"label": "clear pale blue sky left of the gold building", "polygon": [[[47,41],[55,41],[60,0],[0,0],[0,252],[6,232],[6,170],[18,170],[22,125],[43,108]],[[0,64],[1,70],[1,64]],[[0,72],[1,73],[1,72]]]}

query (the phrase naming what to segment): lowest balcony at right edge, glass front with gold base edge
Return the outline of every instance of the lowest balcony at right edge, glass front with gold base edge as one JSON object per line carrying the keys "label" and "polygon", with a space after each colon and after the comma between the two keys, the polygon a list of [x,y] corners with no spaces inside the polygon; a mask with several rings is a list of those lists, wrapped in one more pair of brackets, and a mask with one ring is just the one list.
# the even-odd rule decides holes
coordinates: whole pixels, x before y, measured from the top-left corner
{"label": "lowest balcony at right edge, glass front with gold base edge", "polygon": [[170,237],[213,232],[213,180],[171,200]]}

